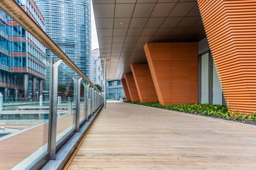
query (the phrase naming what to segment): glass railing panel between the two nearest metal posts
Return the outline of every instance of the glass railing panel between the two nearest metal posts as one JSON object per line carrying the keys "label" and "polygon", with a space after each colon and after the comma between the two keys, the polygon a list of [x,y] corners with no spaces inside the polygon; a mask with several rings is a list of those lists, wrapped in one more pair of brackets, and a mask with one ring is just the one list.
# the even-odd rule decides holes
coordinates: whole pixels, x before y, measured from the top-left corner
{"label": "glass railing panel between the two nearest metal posts", "polygon": [[57,144],[75,128],[77,77],[63,62],[58,67]]}

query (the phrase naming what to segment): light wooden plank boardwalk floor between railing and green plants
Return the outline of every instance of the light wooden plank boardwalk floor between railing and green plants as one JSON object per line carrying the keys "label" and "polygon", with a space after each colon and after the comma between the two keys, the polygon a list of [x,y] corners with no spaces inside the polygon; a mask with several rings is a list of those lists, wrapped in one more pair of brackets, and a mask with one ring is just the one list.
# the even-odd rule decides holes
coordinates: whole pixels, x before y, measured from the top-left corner
{"label": "light wooden plank boardwalk floor between railing and green plants", "polygon": [[256,129],[129,103],[102,109],[69,169],[256,169]]}

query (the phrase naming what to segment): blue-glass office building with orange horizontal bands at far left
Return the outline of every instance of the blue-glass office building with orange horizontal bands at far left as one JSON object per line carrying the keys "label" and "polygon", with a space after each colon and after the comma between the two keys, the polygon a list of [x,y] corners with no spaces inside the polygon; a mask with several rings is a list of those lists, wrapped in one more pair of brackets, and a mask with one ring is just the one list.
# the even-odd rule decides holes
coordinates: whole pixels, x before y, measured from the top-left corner
{"label": "blue-glass office building with orange horizontal bands at far left", "polygon": [[[44,29],[32,0],[16,1]],[[46,79],[46,48],[0,10],[0,92],[8,101],[38,98]]]}

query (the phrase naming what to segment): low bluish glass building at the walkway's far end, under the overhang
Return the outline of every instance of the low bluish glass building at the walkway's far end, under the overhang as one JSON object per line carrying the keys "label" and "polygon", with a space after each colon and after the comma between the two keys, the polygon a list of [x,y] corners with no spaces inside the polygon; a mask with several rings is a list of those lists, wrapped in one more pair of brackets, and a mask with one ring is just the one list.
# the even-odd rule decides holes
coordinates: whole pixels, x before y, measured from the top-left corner
{"label": "low bluish glass building at the walkway's far end, under the overhang", "polygon": [[110,80],[107,81],[107,96],[109,100],[119,100],[125,97],[124,89],[120,80]]}

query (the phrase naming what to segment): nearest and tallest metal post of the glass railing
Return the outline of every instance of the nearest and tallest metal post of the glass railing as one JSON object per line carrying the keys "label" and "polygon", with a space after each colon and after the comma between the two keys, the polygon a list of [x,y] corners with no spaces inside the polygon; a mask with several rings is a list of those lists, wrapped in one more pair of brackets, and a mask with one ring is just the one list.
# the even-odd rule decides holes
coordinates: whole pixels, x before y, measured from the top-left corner
{"label": "nearest and tallest metal post of the glass railing", "polygon": [[[51,60],[53,61],[53,60]],[[50,101],[50,123],[49,123],[49,159],[55,160],[56,154],[56,130],[57,130],[57,112],[58,112],[58,67],[63,60],[58,60],[53,64],[51,73],[51,101]]]}

